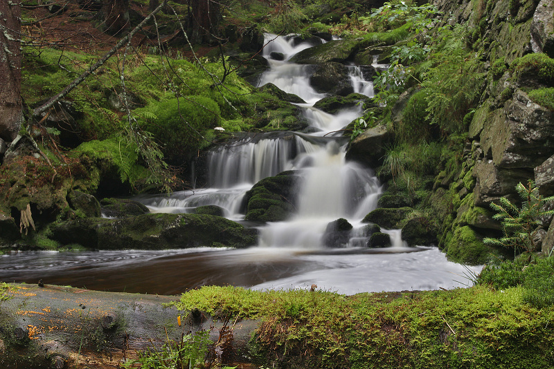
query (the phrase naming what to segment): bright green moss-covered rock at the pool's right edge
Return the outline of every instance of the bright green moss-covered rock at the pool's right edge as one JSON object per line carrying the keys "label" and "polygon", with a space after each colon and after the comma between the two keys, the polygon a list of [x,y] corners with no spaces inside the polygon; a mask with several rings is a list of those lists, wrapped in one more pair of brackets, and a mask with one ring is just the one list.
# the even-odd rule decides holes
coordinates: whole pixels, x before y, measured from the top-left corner
{"label": "bright green moss-covered rock at the pool's right edge", "polygon": [[445,245],[447,257],[456,263],[485,264],[498,254],[492,247],[485,245],[483,237],[469,225],[454,229]]}

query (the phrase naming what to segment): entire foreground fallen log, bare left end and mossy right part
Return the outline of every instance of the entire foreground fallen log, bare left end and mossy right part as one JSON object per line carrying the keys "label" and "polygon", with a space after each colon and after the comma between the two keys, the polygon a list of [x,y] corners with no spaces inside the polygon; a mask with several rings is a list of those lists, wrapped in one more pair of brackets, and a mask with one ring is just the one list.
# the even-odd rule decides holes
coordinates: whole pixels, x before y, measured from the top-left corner
{"label": "entire foreground fallen log, bare left end and mossy right part", "polygon": [[[6,353],[0,367],[6,368],[16,362],[39,368],[54,357],[63,368],[115,368],[150,339],[161,346],[178,341],[182,331],[205,329],[217,341],[224,322],[228,344],[219,347],[229,350],[222,355],[226,363],[248,357],[245,365],[276,368],[554,366],[554,309],[524,302],[522,287],[353,296],[317,287],[203,287],[179,301],[53,285],[3,285],[2,294],[8,300],[0,302],[0,349]],[[170,301],[177,302],[165,308]]]}

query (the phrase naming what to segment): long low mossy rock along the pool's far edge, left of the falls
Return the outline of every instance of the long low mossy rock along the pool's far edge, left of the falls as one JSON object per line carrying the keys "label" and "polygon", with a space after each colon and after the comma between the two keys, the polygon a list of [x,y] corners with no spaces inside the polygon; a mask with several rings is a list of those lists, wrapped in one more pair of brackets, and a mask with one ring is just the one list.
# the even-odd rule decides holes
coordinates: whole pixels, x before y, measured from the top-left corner
{"label": "long low mossy rock along the pool's far edge, left of the falls", "polygon": [[62,245],[78,243],[91,249],[186,249],[248,247],[256,230],[220,216],[145,214],[121,219],[87,218],[52,227]]}

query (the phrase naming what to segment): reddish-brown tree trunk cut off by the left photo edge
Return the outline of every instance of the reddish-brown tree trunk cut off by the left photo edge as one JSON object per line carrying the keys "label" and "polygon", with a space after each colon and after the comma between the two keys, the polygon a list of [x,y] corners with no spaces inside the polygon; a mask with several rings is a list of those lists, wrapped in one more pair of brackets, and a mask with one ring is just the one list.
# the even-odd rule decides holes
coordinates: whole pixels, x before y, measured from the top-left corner
{"label": "reddish-brown tree trunk cut off by the left photo edge", "polygon": [[0,1],[0,15],[0,138],[11,142],[24,122],[20,3]]}

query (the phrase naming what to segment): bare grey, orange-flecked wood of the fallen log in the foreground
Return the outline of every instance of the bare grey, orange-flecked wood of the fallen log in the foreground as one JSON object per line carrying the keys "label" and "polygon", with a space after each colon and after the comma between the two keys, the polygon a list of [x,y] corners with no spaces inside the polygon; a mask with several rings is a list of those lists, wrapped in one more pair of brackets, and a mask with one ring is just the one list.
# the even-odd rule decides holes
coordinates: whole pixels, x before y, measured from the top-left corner
{"label": "bare grey, orange-flecked wood of the fallen log in the foreground", "polygon": [[[248,341],[257,321],[214,321],[164,304],[176,296],[9,284],[0,290],[1,368],[121,368],[144,350],[208,331],[224,364],[251,368]],[[229,333],[231,332],[231,334]],[[222,339],[227,342],[222,342]],[[222,354],[221,350],[229,350]]]}

